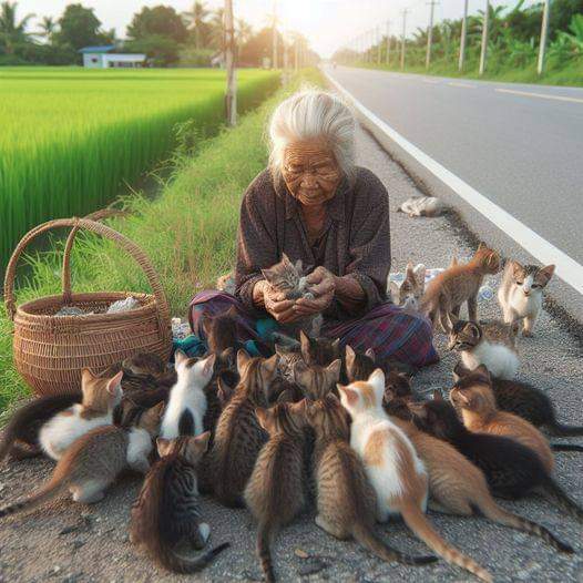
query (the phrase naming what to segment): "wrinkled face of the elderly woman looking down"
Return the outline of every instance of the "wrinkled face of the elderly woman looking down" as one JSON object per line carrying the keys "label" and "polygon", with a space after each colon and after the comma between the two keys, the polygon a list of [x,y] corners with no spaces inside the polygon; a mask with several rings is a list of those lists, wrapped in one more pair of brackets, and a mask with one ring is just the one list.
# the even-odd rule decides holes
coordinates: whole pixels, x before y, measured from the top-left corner
{"label": "wrinkled face of the elderly woman looking down", "polygon": [[305,206],[333,198],[341,177],[334,154],[317,140],[288,144],[282,174],[288,191]]}

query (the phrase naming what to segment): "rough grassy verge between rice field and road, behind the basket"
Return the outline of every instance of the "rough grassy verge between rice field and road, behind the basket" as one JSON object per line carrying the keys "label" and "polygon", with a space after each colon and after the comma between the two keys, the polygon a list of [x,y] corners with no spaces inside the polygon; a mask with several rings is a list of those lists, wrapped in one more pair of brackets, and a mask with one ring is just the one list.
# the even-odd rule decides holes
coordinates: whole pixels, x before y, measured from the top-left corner
{"label": "rough grassy verge between rice field and road, behind the basket", "polygon": [[[308,70],[301,81],[320,83],[319,73]],[[109,221],[114,228],[137,243],[154,263],[173,315],[184,315],[192,296],[214,287],[216,277],[233,264],[242,194],[265,167],[266,121],[286,92],[299,79],[280,90],[237,127],[207,140],[196,157],[180,157],[173,176],[160,196],[140,195],[123,200],[131,211],[125,218]],[[62,241],[49,250],[28,256],[28,274],[18,299],[38,298],[60,292],[59,268]],[[142,274],[119,249],[91,234],[80,234],[72,255],[74,290],[147,290]],[[11,323],[0,308],[0,410],[29,389],[12,365]]]}

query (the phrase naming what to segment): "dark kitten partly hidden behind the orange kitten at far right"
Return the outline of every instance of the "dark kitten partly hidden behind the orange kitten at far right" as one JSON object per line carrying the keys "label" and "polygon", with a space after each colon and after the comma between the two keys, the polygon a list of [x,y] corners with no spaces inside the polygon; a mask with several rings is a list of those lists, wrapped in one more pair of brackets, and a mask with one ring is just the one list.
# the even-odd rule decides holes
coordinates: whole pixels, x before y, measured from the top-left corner
{"label": "dark kitten partly hidden behind the orange kitten at far right", "polygon": [[[453,379],[458,381],[471,372],[459,362],[453,369]],[[554,436],[583,436],[583,427],[565,426],[556,420],[551,399],[536,387],[520,380],[505,380],[492,376],[490,380],[498,409],[518,415],[534,427],[544,426]]]}

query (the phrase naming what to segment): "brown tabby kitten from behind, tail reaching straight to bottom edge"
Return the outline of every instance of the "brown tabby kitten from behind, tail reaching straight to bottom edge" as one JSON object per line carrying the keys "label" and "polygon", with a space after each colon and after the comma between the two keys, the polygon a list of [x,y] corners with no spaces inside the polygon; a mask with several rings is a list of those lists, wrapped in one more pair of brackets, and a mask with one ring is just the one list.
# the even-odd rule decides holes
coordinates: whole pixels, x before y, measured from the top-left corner
{"label": "brown tabby kitten from behind, tail reaching straight to bottom edge", "polygon": [[306,504],[305,406],[303,401],[255,410],[269,439],[245,488],[245,502],[258,523],[257,555],[267,582],[275,581],[269,543]]}

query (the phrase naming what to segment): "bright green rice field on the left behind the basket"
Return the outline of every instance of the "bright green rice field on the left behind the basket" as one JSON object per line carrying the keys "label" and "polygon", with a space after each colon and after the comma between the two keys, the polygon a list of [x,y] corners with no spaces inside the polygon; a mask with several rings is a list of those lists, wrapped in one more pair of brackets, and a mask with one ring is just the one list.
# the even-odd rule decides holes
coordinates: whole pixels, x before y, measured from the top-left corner
{"label": "bright green rice field on the left behind the basket", "polygon": [[[278,83],[239,71],[241,109]],[[224,88],[219,70],[0,69],[0,274],[29,228],[104,206],[167,156],[178,122],[215,133]]]}

